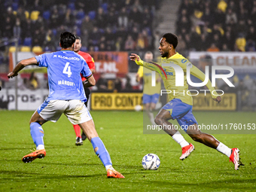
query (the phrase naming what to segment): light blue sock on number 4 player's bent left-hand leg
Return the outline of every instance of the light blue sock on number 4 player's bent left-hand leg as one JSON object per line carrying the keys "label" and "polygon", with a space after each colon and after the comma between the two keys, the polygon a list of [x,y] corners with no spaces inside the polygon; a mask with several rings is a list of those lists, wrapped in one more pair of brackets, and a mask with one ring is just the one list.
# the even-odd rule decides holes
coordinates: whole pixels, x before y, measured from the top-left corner
{"label": "light blue sock on number 4 player's bent left-hand leg", "polygon": [[44,145],[44,130],[39,123],[30,123],[30,134],[36,147],[38,147],[38,145]]}

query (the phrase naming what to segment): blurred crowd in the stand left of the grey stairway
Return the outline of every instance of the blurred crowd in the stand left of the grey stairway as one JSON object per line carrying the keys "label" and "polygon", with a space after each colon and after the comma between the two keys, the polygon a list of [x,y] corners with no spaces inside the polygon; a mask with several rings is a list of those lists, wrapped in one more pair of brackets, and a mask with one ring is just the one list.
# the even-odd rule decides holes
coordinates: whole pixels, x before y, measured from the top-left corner
{"label": "blurred crowd in the stand left of the grey stairway", "polygon": [[159,2],[1,0],[0,43],[20,37],[20,45],[55,51],[59,50],[60,33],[68,30],[81,36],[84,51],[148,50]]}

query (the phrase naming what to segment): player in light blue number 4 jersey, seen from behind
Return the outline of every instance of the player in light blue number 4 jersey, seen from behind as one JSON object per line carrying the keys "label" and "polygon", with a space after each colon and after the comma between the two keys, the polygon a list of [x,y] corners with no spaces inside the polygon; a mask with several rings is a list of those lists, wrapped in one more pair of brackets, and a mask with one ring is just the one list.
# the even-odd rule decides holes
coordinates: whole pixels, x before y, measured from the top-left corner
{"label": "player in light blue number 4 jersey, seen from behind", "polygon": [[62,114],[65,114],[72,124],[78,124],[84,130],[93,145],[93,150],[105,166],[108,178],[124,178],[120,172],[113,168],[108,151],[95,130],[93,118],[84,105],[87,98],[84,94],[80,74],[87,78],[84,83],[87,87],[95,85],[96,82],[87,62],[73,51],[75,35],[71,32],[62,32],[59,45],[62,50],[23,59],[17,64],[13,72],[8,74],[8,78],[13,78],[18,75],[21,69],[29,65],[46,67],[48,74],[49,96],[35,111],[29,122],[30,133],[36,150],[25,155],[22,160],[24,163],[30,163],[32,160],[46,155],[43,139],[44,130],[41,125],[48,120],[56,122]]}

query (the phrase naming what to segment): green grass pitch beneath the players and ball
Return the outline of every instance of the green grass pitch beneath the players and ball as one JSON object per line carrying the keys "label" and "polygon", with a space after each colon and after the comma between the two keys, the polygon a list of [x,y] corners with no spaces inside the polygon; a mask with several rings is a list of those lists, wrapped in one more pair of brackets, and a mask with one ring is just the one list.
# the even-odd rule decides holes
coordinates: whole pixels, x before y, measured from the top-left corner
{"label": "green grass pitch beneath the players and ball", "polygon": [[[29,132],[32,113],[0,111],[0,191],[256,191],[254,134],[215,135],[230,148],[240,149],[245,166],[235,171],[226,156],[187,135],[196,150],[179,160],[181,148],[169,136],[143,134],[142,112],[91,111],[114,168],[126,177],[116,179],[107,178],[88,140],[75,146],[74,129],[64,115],[43,126],[46,157],[23,163],[21,158],[35,148]],[[254,112],[194,115],[199,123],[256,123]],[[148,153],[160,157],[157,171],[142,168],[142,157]]]}

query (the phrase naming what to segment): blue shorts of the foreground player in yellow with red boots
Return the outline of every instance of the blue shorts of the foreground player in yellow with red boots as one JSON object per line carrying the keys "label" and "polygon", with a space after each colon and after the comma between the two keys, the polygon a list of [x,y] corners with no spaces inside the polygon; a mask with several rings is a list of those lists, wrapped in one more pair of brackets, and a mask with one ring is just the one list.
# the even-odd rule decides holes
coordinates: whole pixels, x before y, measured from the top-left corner
{"label": "blue shorts of the foreground player in yellow with red boots", "polygon": [[188,126],[197,123],[194,114],[192,114],[192,108],[192,105],[181,102],[181,99],[172,99],[163,106],[163,109],[169,111],[172,119],[176,119],[181,126],[181,129],[185,132],[187,132]]}

